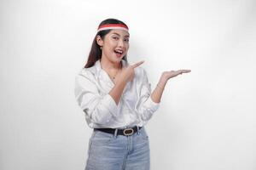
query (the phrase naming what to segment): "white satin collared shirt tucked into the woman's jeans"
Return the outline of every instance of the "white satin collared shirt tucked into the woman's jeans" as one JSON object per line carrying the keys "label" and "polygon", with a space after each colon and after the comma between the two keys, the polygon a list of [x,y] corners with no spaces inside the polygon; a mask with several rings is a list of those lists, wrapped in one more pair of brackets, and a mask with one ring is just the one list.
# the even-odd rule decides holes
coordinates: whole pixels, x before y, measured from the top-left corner
{"label": "white satin collared shirt tucked into the woman's jeans", "polygon": [[[128,63],[122,59],[122,65]],[[114,87],[108,73],[102,69],[100,59],[90,68],[83,68],[75,78],[75,98],[84,111],[91,128],[125,128],[143,126],[159,108],[151,95],[151,84],[142,67],[134,69],[135,76],[127,82],[116,105],[108,94]]]}

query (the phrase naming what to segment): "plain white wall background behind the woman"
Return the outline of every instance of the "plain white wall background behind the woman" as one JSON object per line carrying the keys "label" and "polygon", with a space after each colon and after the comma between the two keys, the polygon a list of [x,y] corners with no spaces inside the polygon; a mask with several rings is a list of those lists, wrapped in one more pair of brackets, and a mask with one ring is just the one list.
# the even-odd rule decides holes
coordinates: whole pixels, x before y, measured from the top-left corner
{"label": "plain white wall background behind the woman", "polygon": [[0,169],[81,170],[91,129],[74,95],[96,27],[130,27],[130,63],[171,79],[146,128],[153,170],[255,170],[256,2],[0,1]]}

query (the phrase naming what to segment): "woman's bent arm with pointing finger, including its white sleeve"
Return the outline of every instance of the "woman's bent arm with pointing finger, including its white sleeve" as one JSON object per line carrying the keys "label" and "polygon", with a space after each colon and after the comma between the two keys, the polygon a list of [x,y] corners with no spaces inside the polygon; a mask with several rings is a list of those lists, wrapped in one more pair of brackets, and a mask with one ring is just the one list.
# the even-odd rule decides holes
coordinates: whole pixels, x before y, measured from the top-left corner
{"label": "woman's bent arm with pointing finger, including its white sleeve", "polygon": [[94,76],[90,71],[79,73],[75,79],[74,94],[79,106],[85,113],[86,120],[96,124],[108,125],[113,116],[118,116],[118,103],[125,84],[133,78],[133,69],[141,64],[143,62],[124,68],[113,89],[104,96],[99,94],[96,84],[92,81]]}

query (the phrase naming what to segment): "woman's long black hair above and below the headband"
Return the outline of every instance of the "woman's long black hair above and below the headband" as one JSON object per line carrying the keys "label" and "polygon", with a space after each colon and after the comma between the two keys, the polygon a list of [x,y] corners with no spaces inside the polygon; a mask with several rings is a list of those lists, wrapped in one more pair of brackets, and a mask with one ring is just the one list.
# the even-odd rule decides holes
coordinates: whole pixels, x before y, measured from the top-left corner
{"label": "woman's long black hair above and below the headband", "polygon": [[[106,25],[106,24],[123,24],[123,25],[125,25],[125,23],[121,20],[107,19],[107,20],[103,20],[99,26]],[[97,32],[96,37],[99,35],[100,37],[102,37],[102,39],[104,39],[104,37],[110,31],[111,30],[99,31],[99,32]],[[96,42],[96,37],[94,38],[94,40],[92,42],[92,45],[91,45],[91,48],[90,48],[90,53],[89,53],[89,56],[88,56],[88,59],[87,59],[87,63],[84,65],[84,68],[89,68],[89,67],[93,66],[98,59],[102,58],[102,50],[101,50],[100,46],[98,45],[98,43]],[[126,55],[123,57],[123,59],[125,61],[127,61],[127,56]]]}

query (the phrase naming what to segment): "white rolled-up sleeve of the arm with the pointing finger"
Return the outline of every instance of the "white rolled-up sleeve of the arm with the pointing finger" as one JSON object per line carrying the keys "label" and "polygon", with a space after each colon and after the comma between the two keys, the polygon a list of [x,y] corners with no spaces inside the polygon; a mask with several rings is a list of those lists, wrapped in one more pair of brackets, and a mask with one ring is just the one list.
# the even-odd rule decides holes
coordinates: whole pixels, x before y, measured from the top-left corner
{"label": "white rolled-up sleeve of the arm with the pointing finger", "polygon": [[75,98],[87,122],[108,125],[109,120],[117,115],[117,105],[109,94],[99,94],[90,76],[90,73],[79,73],[75,77]]}

